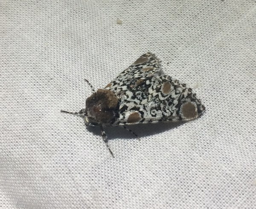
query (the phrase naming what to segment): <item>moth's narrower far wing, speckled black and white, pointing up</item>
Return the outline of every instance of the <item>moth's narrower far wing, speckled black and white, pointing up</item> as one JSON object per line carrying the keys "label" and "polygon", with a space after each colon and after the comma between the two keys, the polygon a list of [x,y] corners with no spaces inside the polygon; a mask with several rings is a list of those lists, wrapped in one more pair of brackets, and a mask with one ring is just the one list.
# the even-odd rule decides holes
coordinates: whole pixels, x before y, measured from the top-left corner
{"label": "moth's narrower far wing, speckled black and white, pointing up", "polygon": [[122,94],[137,85],[151,79],[161,71],[161,62],[150,52],[141,55],[131,66],[120,73],[116,79],[110,82],[104,89],[113,91],[116,96]]}

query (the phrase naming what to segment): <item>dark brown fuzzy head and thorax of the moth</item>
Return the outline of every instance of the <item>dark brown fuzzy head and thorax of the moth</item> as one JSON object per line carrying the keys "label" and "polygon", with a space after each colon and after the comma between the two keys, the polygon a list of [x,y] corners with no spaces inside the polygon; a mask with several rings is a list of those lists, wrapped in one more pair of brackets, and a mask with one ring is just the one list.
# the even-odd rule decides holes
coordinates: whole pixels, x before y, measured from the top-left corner
{"label": "dark brown fuzzy head and thorax of the moth", "polygon": [[98,89],[86,100],[84,123],[87,126],[112,124],[118,115],[118,98],[111,90]]}

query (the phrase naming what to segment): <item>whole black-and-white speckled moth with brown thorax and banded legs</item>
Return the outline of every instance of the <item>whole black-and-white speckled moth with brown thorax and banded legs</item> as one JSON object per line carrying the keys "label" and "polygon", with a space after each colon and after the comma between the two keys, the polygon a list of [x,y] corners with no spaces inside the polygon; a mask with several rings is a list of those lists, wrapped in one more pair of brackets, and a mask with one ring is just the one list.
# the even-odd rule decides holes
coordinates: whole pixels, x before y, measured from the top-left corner
{"label": "whole black-and-white speckled moth with brown thorax and banded legs", "polygon": [[150,52],[140,56],[105,88],[95,91],[88,84],[93,94],[86,99],[86,107],[79,112],[61,112],[82,116],[86,126],[99,126],[112,156],[104,126],[127,129],[130,124],[189,121],[205,111],[193,90],[164,74],[160,60]]}

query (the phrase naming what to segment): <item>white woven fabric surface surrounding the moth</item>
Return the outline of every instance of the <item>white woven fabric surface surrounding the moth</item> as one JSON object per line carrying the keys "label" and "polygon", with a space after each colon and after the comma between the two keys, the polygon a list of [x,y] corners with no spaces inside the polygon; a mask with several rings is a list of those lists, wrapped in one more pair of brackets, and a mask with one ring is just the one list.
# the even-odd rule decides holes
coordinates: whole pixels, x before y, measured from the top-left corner
{"label": "white woven fabric surface surrounding the moth", "polygon": [[[206,113],[108,128],[112,158],[60,110],[148,51]],[[1,0],[0,207],[256,208],[255,71],[255,0]]]}

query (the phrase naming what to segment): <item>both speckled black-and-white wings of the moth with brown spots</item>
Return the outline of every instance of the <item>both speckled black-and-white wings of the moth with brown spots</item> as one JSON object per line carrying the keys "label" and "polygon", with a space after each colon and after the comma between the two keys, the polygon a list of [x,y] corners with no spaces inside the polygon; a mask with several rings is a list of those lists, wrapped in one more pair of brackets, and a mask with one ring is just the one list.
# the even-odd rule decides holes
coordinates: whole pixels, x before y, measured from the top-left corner
{"label": "both speckled black-and-white wings of the moth with brown spots", "polygon": [[154,54],[143,54],[105,87],[119,98],[113,125],[188,121],[204,112],[192,89],[163,75],[160,68]]}

